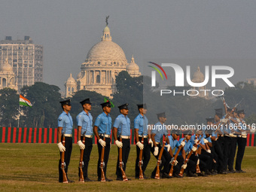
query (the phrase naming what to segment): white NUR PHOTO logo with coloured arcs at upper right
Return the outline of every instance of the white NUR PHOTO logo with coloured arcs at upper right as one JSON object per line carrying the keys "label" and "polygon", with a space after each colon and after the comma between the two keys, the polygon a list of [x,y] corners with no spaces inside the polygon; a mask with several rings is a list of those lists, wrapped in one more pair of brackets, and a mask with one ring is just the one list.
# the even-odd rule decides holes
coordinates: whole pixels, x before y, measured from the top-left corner
{"label": "white NUR PHOTO logo with coloured arcs at upper right", "polygon": [[[157,66],[165,75],[166,80],[167,80],[167,75],[166,72],[163,69],[163,67],[168,67],[170,70],[174,70],[175,72],[175,87],[184,87],[184,70],[181,68],[181,66],[179,66],[178,64],[175,63],[162,63],[161,66],[159,64],[157,64],[156,62],[149,62],[151,64],[153,64],[154,66]],[[154,66],[149,66],[153,69],[155,69],[155,71],[151,71],[151,87],[156,87],[156,71],[160,74],[162,80],[163,80],[163,75],[160,72],[159,69],[157,69]],[[225,71],[227,72],[226,74],[218,74],[218,71]],[[212,87],[216,87],[216,79],[221,79],[222,81],[224,81],[229,87],[235,87],[231,81],[229,80],[229,78],[233,77],[234,75],[234,70],[232,67],[230,66],[212,66],[211,68],[211,77],[212,77]],[[208,84],[209,82],[209,76],[210,76],[210,70],[209,70],[209,66],[205,66],[205,78],[202,82],[193,82],[191,81],[190,78],[190,66],[186,66],[186,80],[187,80],[187,84],[190,87],[194,87],[194,89],[191,90],[183,90],[181,91],[179,89],[179,91],[175,91],[175,90],[160,90],[160,96],[163,96],[163,94],[173,94],[173,96],[179,95],[179,96],[198,96],[199,94],[201,94],[202,92],[205,94],[205,96],[208,93],[212,93],[212,96],[223,96],[224,95],[224,91],[223,90],[206,90],[206,89],[195,89],[195,87],[205,87],[206,84]],[[164,80],[163,80],[164,81]]]}

